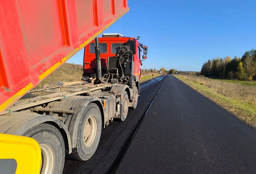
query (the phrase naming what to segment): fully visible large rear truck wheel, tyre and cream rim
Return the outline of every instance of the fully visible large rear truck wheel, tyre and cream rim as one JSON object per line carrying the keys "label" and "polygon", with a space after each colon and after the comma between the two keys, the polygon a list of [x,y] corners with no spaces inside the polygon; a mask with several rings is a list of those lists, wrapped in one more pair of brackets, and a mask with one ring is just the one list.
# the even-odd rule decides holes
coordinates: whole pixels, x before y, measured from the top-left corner
{"label": "fully visible large rear truck wheel, tyre and cream rim", "polygon": [[67,156],[76,160],[88,160],[95,153],[100,137],[101,111],[95,103],[90,103],[77,127],[76,147]]}

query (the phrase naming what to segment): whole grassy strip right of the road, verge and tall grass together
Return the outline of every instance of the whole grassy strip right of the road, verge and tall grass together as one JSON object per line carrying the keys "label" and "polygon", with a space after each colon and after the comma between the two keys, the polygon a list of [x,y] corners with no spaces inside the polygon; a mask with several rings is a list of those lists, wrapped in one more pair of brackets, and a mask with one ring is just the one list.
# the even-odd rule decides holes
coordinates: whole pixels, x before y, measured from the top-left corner
{"label": "whole grassy strip right of the road, verge and tall grass together", "polygon": [[256,129],[256,87],[206,77],[175,77]]}

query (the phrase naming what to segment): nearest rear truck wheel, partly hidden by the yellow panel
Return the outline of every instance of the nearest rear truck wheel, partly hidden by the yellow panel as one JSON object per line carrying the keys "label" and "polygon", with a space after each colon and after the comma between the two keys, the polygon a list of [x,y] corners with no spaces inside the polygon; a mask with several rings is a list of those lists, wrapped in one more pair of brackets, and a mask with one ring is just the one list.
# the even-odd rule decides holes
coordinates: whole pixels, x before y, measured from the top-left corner
{"label": "nearest rear truck wheel, partly hidden by the yellow panel", "polygon": [[40,174],[61,174],[65,161],[64,140],[60,131],[47,123],[39,124],[23,134],[37,140],[41,148]]}

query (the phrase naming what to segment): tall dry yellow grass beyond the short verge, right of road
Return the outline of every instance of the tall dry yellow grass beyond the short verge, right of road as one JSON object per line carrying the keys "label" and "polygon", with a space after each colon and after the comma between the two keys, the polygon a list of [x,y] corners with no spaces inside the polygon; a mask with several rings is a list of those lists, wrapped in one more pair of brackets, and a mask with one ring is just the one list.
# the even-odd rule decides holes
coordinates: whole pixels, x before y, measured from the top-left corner
{"label": "tall dry yellow grass beyond the short verge, right of road", "polygon": [[204,76],[179,75],[184,79],[204,85],[216,92],[236,100],[256,104],[256,86],[231,83],[224,80],[209,79]]}

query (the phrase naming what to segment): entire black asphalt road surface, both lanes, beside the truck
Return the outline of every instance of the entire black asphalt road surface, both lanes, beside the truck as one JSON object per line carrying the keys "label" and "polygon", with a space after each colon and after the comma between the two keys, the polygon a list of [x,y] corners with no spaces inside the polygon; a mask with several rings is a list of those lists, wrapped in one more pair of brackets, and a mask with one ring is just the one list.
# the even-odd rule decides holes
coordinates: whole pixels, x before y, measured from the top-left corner
{"label": "entire black asphalt road surface, both lanes, beside the truck", "polygon": [[256,173],[255,156],[256,131],[167,75],[143,83],[137,108],[102,130],[91,159],[66,160],[63,174]]}

